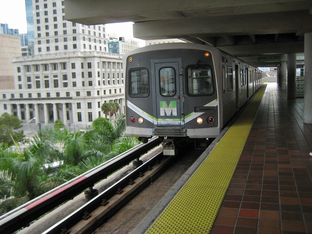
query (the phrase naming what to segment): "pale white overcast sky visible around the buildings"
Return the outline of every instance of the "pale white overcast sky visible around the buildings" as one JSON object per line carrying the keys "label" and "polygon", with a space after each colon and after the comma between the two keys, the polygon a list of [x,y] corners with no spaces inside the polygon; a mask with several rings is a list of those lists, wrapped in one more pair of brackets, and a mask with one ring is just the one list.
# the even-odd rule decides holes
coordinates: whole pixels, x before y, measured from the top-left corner
{"label": "pale white overcast sky visible around the buildings", "polygon": [[[19,33],[27,33],[25,0],[1,1],[0,23],[7,23],[9,28],[18,28]],[[141,47],[145,46],[145,41],[133,37],[132,24],[133,22],[106,24],[106,32],[125,39],[132,38],[139,41]]]}

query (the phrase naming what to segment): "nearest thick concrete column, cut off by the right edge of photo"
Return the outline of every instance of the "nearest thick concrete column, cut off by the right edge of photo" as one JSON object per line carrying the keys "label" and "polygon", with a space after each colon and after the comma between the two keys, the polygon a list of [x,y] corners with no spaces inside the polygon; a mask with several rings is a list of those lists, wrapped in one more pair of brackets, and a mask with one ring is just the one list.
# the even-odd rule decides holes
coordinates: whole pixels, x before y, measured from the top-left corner
{"label": "nearest thick concrete column, cut off by the right edge of photo", "polygon": [[312,124],[312,32],[305,33],[305,93],[303,122]]}

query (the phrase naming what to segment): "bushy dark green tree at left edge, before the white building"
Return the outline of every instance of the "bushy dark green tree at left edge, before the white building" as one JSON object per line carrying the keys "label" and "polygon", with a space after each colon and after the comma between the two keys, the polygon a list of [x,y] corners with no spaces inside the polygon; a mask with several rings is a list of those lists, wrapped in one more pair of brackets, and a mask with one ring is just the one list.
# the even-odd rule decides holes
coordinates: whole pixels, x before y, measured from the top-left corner
{"label": "bushy dark green tree at left edge, before the white building", "polygon": [[22,120],[18,119],[17,116],[2,114],[0,117],[0,144],[13,145],[12,137],[18,142],[22,141],[25,137],[24,131],[19,130],[22,126]]}

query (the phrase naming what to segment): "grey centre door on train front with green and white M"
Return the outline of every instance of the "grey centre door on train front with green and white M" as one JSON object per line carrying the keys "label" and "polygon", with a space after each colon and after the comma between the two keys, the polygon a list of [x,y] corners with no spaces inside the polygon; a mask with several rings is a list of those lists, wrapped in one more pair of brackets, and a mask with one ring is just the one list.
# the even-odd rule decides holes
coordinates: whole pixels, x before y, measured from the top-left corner
{"label": "grey centre door on train front with green and white M", "polygon": [[155,127],[181,127],[184,121],[181,64],[181,59],[152,60],[155,69],[154,113],[157,113]]}

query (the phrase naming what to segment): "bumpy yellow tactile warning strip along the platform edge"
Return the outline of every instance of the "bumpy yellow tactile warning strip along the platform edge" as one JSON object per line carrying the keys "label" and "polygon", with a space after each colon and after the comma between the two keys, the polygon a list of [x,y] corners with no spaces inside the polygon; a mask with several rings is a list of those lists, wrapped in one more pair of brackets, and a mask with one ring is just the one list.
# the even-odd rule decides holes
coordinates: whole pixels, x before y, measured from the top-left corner
{"label": "bumpy yellow tactile warning strip along the platform edge", "polygon": [[266,83],[146,233],[210,232],[265,89]]}

